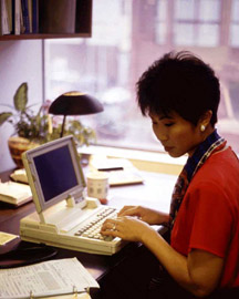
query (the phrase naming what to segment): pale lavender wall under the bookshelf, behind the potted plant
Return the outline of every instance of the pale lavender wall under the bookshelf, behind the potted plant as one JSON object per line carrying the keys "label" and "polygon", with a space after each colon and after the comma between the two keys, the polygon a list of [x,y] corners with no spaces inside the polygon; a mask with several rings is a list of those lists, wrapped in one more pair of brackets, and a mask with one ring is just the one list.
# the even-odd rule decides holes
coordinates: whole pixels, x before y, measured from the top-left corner
{"label": "pale lavender wall under the bookshelf, behind the potted plant", "polygon": [[[13,104],[13,95],[22,82],[28,82],[29,103],[41,103],[42,41],[21,40],[0,42],[0,112],[1,104]],[[0,172],[15,167],[8,150],[8,138],[13,133],[8,123],[0,126]]]}

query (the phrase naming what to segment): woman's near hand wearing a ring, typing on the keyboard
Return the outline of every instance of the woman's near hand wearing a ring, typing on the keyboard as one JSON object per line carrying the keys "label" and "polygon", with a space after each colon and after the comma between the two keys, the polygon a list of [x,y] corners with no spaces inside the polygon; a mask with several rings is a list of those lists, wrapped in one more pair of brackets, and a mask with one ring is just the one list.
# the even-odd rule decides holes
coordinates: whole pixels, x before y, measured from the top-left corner
{"label": "woman's near hand wearing a ring, typing on the keyboard", "polygon": [[129,241],[142,241],[144,235],[152,229],[148,224],[137,218],[124,216],[116,219],[106,219],[102,225],[101,234]]}

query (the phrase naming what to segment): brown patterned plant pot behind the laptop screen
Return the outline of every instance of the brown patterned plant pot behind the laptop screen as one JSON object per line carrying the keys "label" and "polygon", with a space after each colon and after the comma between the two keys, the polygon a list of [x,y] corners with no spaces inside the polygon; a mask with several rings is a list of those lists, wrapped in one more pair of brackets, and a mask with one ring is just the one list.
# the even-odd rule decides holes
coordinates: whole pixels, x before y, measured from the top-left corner
{"label": "brown patterned plant pot behind the laptop screen", "polygon": [[17,167],[23,168],[24,166],[21,158],[22,153],[24,153],[28,150],[39,146],[39,144],[23,137],[12,136],[8,140],[8,146],[9,146],[11,157],[14,161]]}

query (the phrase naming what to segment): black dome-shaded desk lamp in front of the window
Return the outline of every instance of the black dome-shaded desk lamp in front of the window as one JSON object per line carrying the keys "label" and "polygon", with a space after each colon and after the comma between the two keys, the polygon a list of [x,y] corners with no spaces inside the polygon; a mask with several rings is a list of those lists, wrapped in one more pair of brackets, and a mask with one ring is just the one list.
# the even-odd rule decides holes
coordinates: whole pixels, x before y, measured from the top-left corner
{"label": "black dome-shaded desk lamp in front of the window", "polygon": [[52,102],[49,113],[63,115],[61,137],[64,133],[67,115],[86,115],[102,112],[103,105],[93,96],[77,91],[66,92]]}

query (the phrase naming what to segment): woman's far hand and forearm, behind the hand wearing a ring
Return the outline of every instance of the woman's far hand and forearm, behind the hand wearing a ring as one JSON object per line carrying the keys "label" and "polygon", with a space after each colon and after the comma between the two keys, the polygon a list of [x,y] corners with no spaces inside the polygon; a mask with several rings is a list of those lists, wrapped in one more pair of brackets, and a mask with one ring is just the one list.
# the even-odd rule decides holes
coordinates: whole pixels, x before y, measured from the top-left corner
{"label": "woman's far hand and forearm, behind the hand wearing a ring", "polygon": [[142,206],[124,206],[118,213],[118,217],[122,216],[135,216],[149,225],[160,225],[169,219],[166,213]]}

